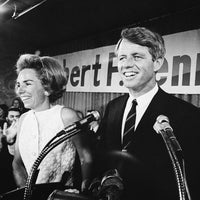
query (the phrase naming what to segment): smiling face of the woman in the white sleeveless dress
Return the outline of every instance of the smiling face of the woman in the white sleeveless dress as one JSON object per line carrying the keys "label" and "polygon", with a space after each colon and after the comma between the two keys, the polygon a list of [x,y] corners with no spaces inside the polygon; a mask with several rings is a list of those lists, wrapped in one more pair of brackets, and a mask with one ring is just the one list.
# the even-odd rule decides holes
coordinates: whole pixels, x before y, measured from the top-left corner
{"label": "smiling face of the woman in the white sleeveless dress", "polygon": [[41,111],[49,106],[48,96],[34,69],[23,69],[17,77],[16,93],[26,108]]}

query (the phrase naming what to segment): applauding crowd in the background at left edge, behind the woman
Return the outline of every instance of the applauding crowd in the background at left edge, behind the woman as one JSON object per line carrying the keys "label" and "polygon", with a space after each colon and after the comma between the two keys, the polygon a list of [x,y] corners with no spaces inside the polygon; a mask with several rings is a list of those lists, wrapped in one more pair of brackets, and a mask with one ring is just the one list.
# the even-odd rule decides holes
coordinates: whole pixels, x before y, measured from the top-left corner
{"label": "applauding crowd in the background at left edge, behind the woman", "polygon": [[12,172],[16,134],[7,134],[6,130],[27,110],[19,97],[14,98],[11,105],[0,104],[0,177],[4,177],[0,181],[0,193],[16,188]]}

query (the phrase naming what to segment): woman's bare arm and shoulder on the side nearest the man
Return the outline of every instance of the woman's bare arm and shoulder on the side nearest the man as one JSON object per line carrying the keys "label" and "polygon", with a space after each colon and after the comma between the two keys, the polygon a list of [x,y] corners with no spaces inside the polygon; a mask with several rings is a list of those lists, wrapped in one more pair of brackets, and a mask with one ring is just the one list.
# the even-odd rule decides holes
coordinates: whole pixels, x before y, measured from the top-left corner
{"label": "woman's bare arm and shoulder on the side nearest the man", "polygon": [[[64,108],[62,112],[62,118],[65,126],[80,120],[76,112],[71,109]],[[89,186],[90,179],[92,178],[92,152],[90,148],[90,143],[88,135],[86,132],[78,133],[72,137],[72,141],[79,154],[81,171],[82,171],[82,191],[86,190]]]}

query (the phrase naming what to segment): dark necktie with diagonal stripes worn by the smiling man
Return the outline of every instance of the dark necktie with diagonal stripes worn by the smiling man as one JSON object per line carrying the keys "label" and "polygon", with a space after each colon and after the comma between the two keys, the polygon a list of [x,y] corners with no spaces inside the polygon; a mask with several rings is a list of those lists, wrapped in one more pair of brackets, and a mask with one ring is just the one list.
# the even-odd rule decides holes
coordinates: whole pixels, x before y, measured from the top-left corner
{"label": "dark necktie with diagonal stripes worn by the smiling man", "polygon": [[126,149],[129,143],[131,142],[132,134],[135,128],[136,106],[137,106],[137,101],[134,99],[132,101],[132,107],[125,121],[124,133],[123,133],[123,144],[122,144],[123,149]]}

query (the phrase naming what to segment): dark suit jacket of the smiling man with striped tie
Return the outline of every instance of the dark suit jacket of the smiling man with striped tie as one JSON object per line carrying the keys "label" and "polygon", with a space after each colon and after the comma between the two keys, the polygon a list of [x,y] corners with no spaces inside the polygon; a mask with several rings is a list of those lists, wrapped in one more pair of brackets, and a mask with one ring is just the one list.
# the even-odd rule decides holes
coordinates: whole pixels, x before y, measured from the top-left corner
{"label": "dark suit jacket of the smiling man with striped tie", "polygon": [[128,152],[122,152],[121,125],[128,94],[110,101],[98,129],[101,141],[97,168],[103,173],[118,169],[123,178],[123,200],[178,200],[179,190],[173,165],[160,134],[153,129],[156,118],[165,115],[170,120],[179,141],[186,166],[186,177],[192,200],[200,199],[199,142],[200,112],[197,107],[159,88],[145,111]]}

